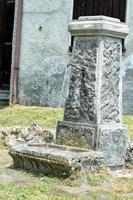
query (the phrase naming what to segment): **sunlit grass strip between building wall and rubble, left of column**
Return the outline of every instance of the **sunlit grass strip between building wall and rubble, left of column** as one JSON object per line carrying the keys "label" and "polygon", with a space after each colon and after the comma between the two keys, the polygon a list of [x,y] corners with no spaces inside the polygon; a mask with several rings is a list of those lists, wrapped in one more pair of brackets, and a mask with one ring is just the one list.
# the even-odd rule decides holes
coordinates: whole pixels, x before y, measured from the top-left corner
{"label": "sunlit grass strip between building wall and rubble, left of column", "polygon": [[14,125],[30,126],[37,123],[47,128],[55,128],[57,119],[62,119],[63,109],[7,106],[0,107],[0,127]]}

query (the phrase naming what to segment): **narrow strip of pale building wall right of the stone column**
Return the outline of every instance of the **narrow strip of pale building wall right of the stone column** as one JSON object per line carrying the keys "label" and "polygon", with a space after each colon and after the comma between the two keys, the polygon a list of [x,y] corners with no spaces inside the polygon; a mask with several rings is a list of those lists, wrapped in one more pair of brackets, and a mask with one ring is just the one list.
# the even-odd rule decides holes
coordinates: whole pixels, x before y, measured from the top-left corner
{"label": "narrow strip of pale building wall right of the stone column", "polygon": [[133,114],[133,0],[127,0],[126,23],[129,35],[125,40],[126,53],[123,56],[123,112]]}

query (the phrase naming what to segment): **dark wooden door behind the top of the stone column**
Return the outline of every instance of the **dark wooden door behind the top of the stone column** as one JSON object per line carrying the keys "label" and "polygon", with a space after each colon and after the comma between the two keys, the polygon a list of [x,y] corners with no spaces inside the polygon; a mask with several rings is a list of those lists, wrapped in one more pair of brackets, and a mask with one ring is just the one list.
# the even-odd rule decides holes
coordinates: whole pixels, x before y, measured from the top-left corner
{"label": "dark wooden door behind the top of the stone column", "polygon": [[74,0],[73,19],[93,15],[115,17],[124,22],[126,0]]}

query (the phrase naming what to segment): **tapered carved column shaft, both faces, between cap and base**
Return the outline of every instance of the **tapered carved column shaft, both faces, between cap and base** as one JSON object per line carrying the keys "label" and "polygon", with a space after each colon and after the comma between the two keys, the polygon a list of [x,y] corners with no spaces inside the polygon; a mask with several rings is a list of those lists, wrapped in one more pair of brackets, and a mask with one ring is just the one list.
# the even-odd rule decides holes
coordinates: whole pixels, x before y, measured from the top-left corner
{"label": "tapered carved column shaft, both faces, between cap and base", "polygon": [[120,60],[120,39],[75,38],[65,121],[89,124],[121,122]]}

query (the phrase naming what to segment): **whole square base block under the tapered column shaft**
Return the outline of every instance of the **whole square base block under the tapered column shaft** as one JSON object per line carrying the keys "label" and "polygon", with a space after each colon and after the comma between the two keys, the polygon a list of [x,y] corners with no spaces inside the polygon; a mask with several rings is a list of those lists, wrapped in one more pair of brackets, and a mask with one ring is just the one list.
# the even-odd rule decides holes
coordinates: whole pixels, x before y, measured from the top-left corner
{"label": "whole square base block under the tapered column shaft", "polygon": [[108,167],[120,168],[125,163],[127,127],[124,125],[59,121],[56,134],[58,144],[101,151]]}

